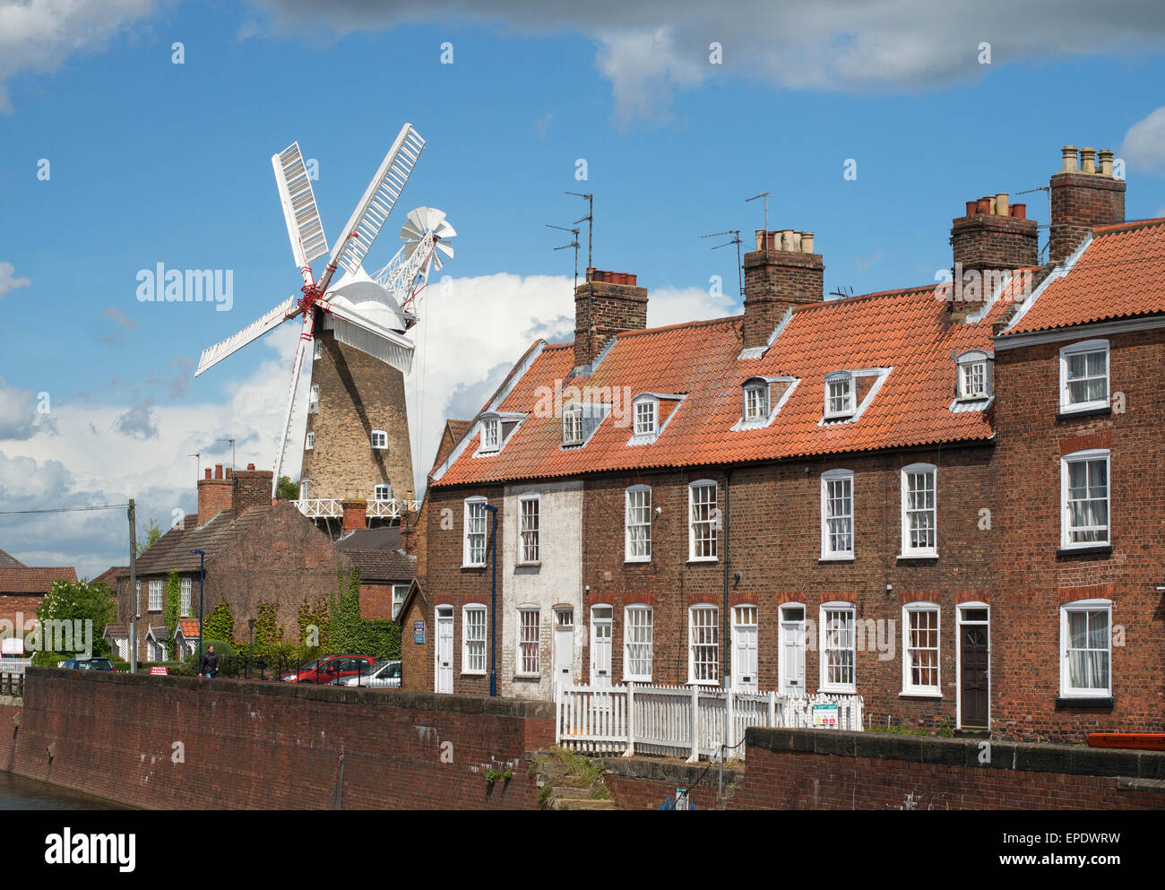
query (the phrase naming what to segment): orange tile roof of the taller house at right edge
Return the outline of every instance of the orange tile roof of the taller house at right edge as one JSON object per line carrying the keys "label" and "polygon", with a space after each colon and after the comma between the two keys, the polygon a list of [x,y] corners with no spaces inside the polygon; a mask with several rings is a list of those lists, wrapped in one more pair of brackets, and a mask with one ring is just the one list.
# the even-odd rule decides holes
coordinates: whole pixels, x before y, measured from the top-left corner
{"label": "orange tile roof of the taller house at right edge", "polygon": [[1165,313],[1165,219],[1093,229],[1066,275],[1053,278],[1004,335]]}

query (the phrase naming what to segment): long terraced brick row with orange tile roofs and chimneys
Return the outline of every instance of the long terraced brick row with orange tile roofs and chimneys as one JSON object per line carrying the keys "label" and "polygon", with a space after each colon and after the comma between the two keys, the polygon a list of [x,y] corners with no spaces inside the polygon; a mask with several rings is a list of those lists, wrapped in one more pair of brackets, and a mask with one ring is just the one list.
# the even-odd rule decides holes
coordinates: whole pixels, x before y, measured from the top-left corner
{"label": "long terraced brick row with orange tile roofs and chimneys", "polygon": [[648,329],[635,276],[588,269],[574,342],[536,342],[430,475],[405,684],[1165,728],[1165,220],[1124,224],[1089,151],[1052,177],[1046,263],[998,193],[938,285],[825,301],[813,234],[757,232],[742,316]]}

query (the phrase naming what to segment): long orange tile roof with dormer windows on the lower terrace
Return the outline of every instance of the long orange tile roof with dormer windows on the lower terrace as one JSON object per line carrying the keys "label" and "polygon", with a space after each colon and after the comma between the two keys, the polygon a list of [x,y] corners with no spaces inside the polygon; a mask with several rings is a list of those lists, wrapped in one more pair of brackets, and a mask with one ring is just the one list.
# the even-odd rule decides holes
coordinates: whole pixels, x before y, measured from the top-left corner
{"label": "long orange tile roof with dormer windows on the lower terrace", "polygon": [[[949,410],[953,355],[990,349],[991,325],[1010,303],[997,302],[970,324],[949,324],[934,285],[800,306],[760,359],[740,359],[741,318],[622,333],[589,379],[570,379],[570,344],[546,346],[497,410],[529,416],[489,457],[473,457],[474,436],[436,486],[499,482],[579,473],[720,465],[935,443],[986,440],[983,411]],[[850,423],[822,425],[824,377],[833,370],[889,368],[880,391]],[[764,429],[734,431],[741,383],[754,375],[800,379]],[[610,387],[686,394],[658,439],[628,446],[629,425],[608,416],[582,447],[562,448],[560,418],[536,416],[539,394],[562,387]],[[544,389],[542,389],[544,388]],[[626,388],[626,389],[624,389]],[[621,405],[630,417],[630,404]],[[545,411],[543,411],[545,414]]]}

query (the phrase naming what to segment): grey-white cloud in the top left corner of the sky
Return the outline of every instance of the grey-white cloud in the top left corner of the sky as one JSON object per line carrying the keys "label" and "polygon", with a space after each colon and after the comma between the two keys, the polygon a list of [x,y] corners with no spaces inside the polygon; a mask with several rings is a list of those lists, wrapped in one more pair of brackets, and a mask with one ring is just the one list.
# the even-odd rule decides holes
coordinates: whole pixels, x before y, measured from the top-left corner
{"label": "grey-white cloud in the top left corner of the sky", "polygon": [[0,112],[12,111],[5,82],[13,75],[56,71],[153,12],[154,0],[0,0]]}

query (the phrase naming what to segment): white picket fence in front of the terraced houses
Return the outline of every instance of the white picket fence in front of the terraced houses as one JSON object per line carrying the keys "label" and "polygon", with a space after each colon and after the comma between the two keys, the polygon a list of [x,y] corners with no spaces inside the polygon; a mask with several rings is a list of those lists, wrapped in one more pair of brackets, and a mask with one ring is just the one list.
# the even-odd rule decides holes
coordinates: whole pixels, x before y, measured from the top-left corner
{"label": "white picket fence in front of the terraced houses", "polygon": [[833,706],[838,729],[862,728],[861,695],[779,695],[707,686],[560,686],[555,693],[555,741],[592,754],[669,754],[697,761],[744,757],[750,726],[813,727],[813,708]]}

